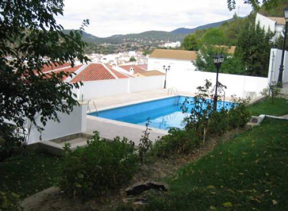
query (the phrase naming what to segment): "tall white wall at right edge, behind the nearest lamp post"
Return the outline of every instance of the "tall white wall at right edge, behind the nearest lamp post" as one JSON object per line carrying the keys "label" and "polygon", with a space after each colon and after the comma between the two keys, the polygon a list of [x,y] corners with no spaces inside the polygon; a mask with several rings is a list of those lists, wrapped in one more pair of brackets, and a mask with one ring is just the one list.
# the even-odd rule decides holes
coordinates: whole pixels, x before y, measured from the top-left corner
{"label": "tall white wall at right edge, behind the nearest lamp post", "polygon": [[[279,67],[281,64],[282,51],[278,49],[271,49],[268,83],[277,82],[279,76]],[[284,53],[284,71],[282,76],[283,83],[288,83],[288,52]]]}

